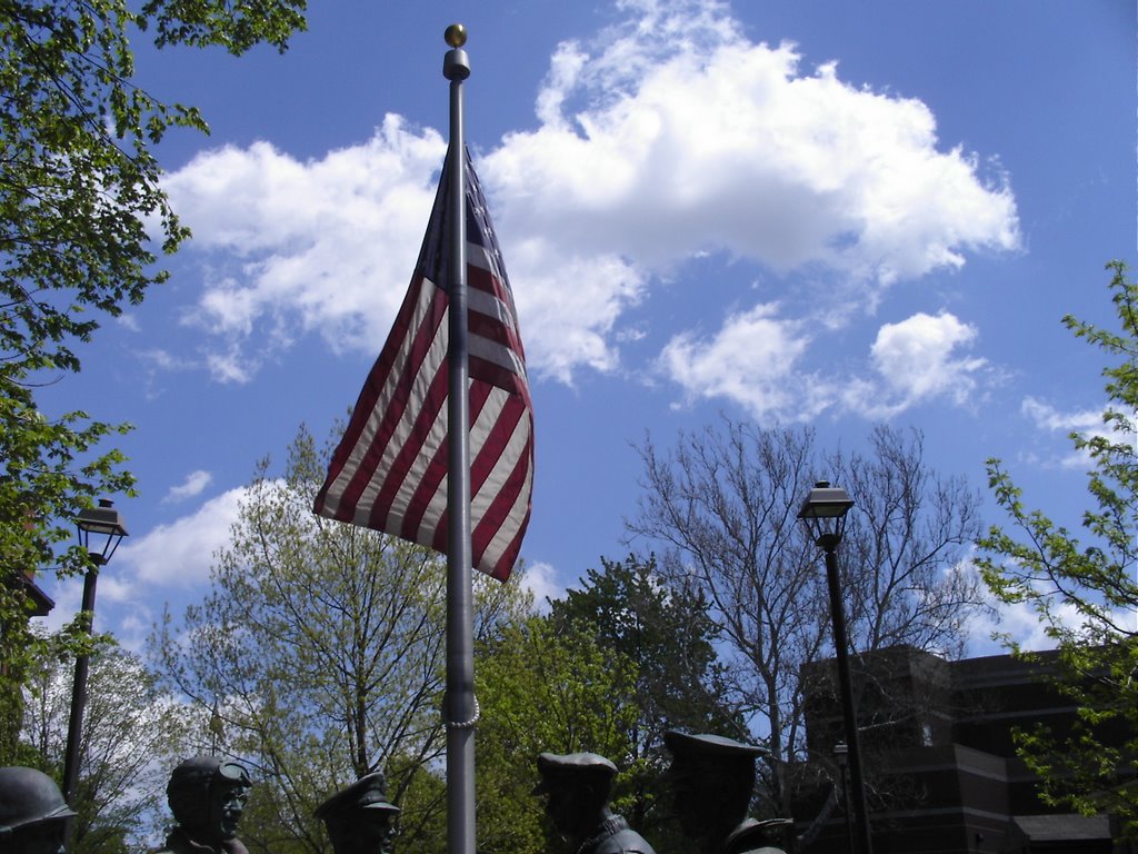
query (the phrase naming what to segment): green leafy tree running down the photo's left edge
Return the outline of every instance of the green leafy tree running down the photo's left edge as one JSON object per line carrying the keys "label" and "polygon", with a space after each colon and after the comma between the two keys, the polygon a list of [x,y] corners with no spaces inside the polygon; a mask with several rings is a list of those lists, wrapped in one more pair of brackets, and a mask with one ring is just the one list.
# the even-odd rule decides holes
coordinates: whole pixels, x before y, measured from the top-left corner
{"label": "green leafy tree running down the photo's left edge", "polygon": [[[59,543],[71,519],[133,478],[102,441],[129,429],[73,411],[48,417],[36,389],[76,372],[77,345],[166,279],[157,252],[189,236],[159,184],[167,129],[207,131],[134,80],[131,39],[158,47],[257,43],[283,50],[304,0],[0,0],[0,762],[19,729],[19,685],[38,641],[13,578],[86,568]],[[77,631],[76,637],[83,632]]]}

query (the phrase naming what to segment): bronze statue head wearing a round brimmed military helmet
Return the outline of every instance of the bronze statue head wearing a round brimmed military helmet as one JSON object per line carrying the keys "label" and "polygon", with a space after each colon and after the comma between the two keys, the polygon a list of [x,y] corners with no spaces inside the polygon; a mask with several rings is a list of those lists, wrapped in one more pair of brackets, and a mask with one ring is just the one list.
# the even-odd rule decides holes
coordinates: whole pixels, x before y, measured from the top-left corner
{"label": "bronze statue head wearing a round brimmed military helmet", "polygon": [[0,852],[63,854],[75,815],[56,781],[32,767],[0,767]]}

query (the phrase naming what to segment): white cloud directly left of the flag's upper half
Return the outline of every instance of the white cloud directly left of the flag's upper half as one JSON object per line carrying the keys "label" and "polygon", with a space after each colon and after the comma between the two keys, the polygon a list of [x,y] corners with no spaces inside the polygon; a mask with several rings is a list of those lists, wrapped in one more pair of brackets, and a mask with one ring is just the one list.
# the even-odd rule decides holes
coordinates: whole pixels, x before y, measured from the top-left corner
{"label": "white cloud directly left of the flag's upper half", "polygon": [[389,115],[365,145],[320,161],[256,142],[171,174],[191,249],[207,251],[187,322],[213,336],[214,377],[247,381],[310,331],[333,351],[374,351],[410,281],[444,150],[437,132]]}

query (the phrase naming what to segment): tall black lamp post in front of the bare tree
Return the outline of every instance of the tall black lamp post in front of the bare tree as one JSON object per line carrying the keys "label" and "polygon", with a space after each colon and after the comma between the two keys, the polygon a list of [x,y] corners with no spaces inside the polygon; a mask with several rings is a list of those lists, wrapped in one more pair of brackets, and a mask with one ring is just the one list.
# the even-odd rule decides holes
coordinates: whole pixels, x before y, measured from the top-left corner
{"label": "tall black lamp post in front of the bare tree", "polygon": [[846,490],[836,488],[826,481],[819,481],[806,501],[798,518],[806,523],[814,542],[826,555],[826,584],[830,588],[830,617],[834,627],[834,657],[838,660],[838,683],[842,699],[842,718],[846,723],[846,746],[850,764],[850,785],[853,789],[853,807],[857,818],[861,854],[873,854],[869,834],[869,813],[866,808],[865,778],[861,774],[861,748],[857,731],[857,713],[853,708],[853,688],[850,680],[849,638],[846,633],[846,609],[842,606],[841,586],[838,578],[838,543],[842,541],[846,514],[853,507]]}

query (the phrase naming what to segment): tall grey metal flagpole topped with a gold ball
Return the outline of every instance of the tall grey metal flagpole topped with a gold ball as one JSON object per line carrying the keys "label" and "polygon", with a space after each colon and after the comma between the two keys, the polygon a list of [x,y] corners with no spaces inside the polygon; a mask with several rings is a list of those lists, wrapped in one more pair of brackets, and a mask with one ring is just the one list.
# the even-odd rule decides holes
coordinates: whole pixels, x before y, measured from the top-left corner
{"label": "tall grey metal flagpole topped with a gold ball", "polygon": [[443,75],[451,81],[450,206],[450,352],[447,353],[448,473],[446,575],[446,828],[448,854],[475,854],[475,699],[473,564],[470,532],[470,369],[467,344],[467,186],[462,82],[470,61],[461,24],[446,30],[451,47]]}

